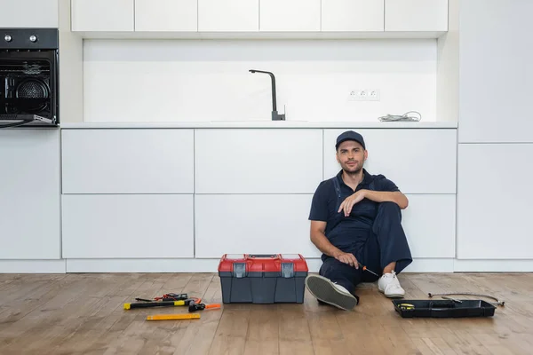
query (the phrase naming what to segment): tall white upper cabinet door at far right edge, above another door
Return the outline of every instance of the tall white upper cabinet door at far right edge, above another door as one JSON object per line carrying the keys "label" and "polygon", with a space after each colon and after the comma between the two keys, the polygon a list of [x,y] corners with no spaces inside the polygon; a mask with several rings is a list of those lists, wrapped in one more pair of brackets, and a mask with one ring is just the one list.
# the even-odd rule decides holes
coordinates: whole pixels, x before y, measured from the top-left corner
{"label": "tall white upper cabinet door at far right edge, above another door", "polygon": [[533,1],[461,2],[459,143],[533,143],[532,13]]}

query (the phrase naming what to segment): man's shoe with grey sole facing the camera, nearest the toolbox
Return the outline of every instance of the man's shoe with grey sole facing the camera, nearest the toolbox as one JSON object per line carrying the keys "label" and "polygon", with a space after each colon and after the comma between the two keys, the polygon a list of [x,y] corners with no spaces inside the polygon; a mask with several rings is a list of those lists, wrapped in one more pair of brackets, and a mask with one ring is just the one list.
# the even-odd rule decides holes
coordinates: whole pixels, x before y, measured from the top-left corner
{"label": "man's shoe with grey sole facing the camera, nearest the toolbox", "polygon": [[320,301],[334,305],[341,310],[349,311],[357,305],[357,299],[354,296],[339,292],[330,280],[322,276],[307,276],[306,288]]}

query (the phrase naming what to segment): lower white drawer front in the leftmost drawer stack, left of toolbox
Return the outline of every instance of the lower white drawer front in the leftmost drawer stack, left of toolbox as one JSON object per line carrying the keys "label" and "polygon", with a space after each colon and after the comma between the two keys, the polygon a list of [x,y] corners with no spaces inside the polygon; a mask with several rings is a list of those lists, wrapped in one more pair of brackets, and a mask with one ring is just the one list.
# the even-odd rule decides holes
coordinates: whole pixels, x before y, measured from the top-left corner
{"label": "lower white drawer front in the leftmost drawer stack, left of toolbox", "polygon": [[193,257],[193,223],[192,194],[63,195],[63,257]]}

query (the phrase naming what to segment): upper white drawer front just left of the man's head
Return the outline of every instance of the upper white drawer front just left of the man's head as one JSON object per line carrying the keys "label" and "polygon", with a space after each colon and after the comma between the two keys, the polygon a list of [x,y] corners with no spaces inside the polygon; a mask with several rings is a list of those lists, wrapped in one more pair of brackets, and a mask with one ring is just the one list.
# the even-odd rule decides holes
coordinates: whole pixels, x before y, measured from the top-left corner
{"label": "upper white drawer front just left of the man's head", "polygon": [[197,130],[196,193],[314,193],[322,130]]}

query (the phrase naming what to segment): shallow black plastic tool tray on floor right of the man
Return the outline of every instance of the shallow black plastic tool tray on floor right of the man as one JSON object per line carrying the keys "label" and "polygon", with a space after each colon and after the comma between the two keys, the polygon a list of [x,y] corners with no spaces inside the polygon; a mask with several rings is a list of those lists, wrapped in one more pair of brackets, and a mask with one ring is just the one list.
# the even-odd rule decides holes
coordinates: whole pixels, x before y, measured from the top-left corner
{"label": "shallow black plastic tool tray on floor right of the man", "polygon": [[[492,317],[496,307],[482,300],[393,300],[394,309],[402,318]],[[401,304],[412,304],[408,309]]]}

